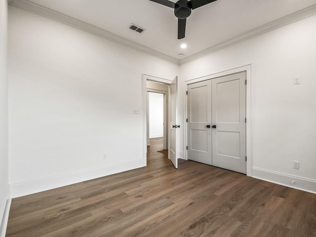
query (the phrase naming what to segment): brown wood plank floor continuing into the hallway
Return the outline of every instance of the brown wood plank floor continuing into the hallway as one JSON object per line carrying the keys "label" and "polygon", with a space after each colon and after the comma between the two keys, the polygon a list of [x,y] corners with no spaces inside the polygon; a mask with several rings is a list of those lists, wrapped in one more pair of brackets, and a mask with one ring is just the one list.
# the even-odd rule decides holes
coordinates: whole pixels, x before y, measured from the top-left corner
{"label": "brown wood plank floor continuing into the hallway", "polygon": [[7,237],[316,237],[316,195],[179,160],[14,198]]}

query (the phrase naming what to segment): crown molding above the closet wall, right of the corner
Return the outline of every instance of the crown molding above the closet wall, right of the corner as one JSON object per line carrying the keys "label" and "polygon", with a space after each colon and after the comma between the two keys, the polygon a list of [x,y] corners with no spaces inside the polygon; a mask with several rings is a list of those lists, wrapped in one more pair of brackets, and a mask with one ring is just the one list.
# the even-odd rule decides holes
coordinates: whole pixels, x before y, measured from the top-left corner
{"label": "crown molding above the closet wall, right of the corner", "polygon": [[294,12],[292,14],[289,14],[287,16],[284,16],[282,18],[279,18],[275,21],[272,21],[272,22],[267,23],[265,25],[262,25],[260,27],[257,27],[255,29],[252,29],[250,31],[247,31],[245,33],[242,33],[241,35],[238,35],[237,37],[234,37],[230,40],[223,41],[223,42],[218,43],[214,46],[211,46],[211,47],[206,48],[202,51],[199,51],[195,54],[192,54],[184,59],[181,59],[180,65],[194,61],[194,60],[201,58],[203,56],[206,56],[208,54],[214,53],[216,51],[227,48],[229,46],[240,43],[242,41],[249,40],[249,39],[254,38],[256,36],[262,35],[262,34],[267,33],[269,31],[273,31],[277,28],[280,28],[282,26],[285,26],[285,25],[291,24],[293,22],[302,20],[306,17],[312,16],[315,14],[316,14],[316,4],[309,6],[307,8],[304,8],[302,10],[299,10],[297,12]]}

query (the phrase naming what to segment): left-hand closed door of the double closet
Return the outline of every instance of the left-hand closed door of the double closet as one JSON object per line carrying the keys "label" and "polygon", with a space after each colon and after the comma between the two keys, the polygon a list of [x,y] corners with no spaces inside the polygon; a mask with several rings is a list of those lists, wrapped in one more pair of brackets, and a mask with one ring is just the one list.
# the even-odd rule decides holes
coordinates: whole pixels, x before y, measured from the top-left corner
{"label": "left-hand closed door of the double closet", "polygon": [[212,82],[188,85],[188,159],[212,164]]}

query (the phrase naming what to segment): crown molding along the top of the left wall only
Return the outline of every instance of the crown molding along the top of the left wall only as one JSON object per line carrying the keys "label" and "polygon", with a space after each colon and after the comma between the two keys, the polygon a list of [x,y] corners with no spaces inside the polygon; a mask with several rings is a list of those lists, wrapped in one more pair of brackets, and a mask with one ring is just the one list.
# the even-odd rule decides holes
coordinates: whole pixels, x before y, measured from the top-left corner
{"label": "crown molding along the top of the left wall only", "polygon": [[73,17],[62,14],[60,12],[54,11],[54,10],[49,9],[47,7],[41,6],[39,4],[31,2],[29,0],[8,0],[8,3],[12,6],[19,7],[21,9],[36,13],[38,15],[50,18],[52,20],[61,22],[63,24],[75,27],[79,30],[94,34],[94,35],[99,36],[99,37],[102,37],[106,40],[114,41],[114,42],[119,43],[121,45],[124,45],[126,47],[135,49],[137,51],[149,54],[151,56],[155,56],[157,58],[163,59],[163,60],[168,61],[170,63],[174,63],[174,64],[179,65],[179,59],[176,59],[176,58],[173,58],[173,57],[168,56],[166,54],[160,53],[154,49],[151,49],[151,48],[146,47],[144,45],[141,45],[139,43],[133,42],[131,40],[127,40],[127,39],[120,37],[118,35],[115,35],[111,32],[108,32],[108,31],[103,30],[101,28],[95,27],[93,25],[90,25],[88,23],[85,23],[83,21],[75,19]]}

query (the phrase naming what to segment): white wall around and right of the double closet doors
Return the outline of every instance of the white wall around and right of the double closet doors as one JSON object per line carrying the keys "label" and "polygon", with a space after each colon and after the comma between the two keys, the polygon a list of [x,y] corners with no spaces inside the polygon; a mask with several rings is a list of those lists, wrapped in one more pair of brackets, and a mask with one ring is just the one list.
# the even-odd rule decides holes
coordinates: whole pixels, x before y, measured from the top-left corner
{"label": "white wall around and right of the double closet doors", "polygon": [[[180,79],[186,81],[251,64],[254,176],[285,185],[296,180],[291,177],[303,177],[293,186],[313,192],[316,192],[315,26],[316,15],[180,67]],[[295,76],[301,77],[300,84],[293,84]],[[293,160],[300,161],[300,169],[292,168]],[[281,177],[285,177],[283,181]],[[310,186],[304,188],[298,182],[310,182]]]}

